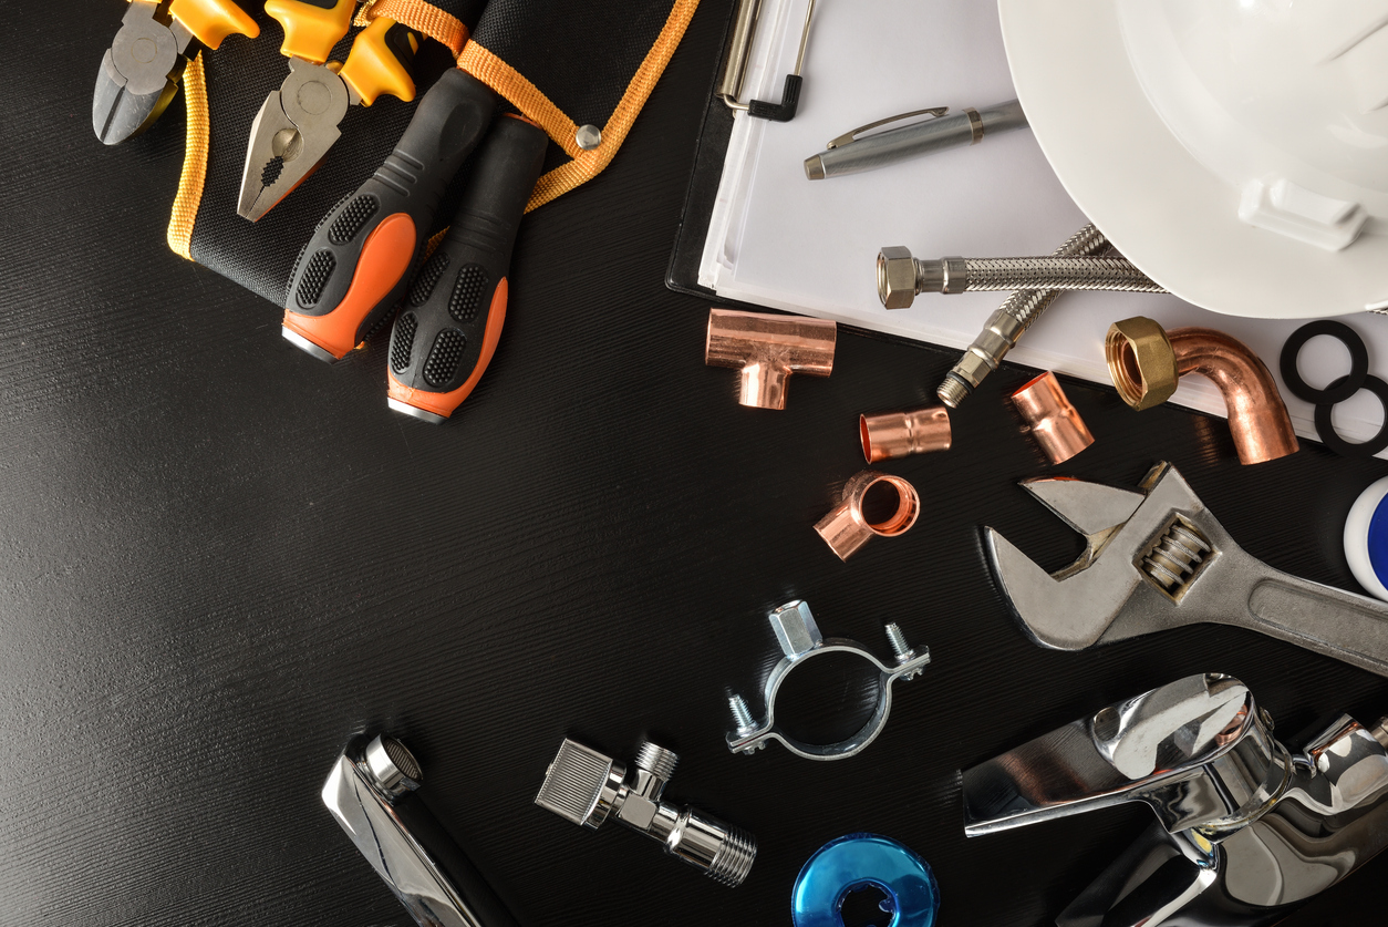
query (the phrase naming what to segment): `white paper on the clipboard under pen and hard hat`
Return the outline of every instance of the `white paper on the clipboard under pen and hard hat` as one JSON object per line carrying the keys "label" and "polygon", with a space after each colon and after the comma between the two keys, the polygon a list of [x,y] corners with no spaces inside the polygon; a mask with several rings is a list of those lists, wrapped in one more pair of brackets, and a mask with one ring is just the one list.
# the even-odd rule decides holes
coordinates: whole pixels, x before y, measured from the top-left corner
{"label": "white paper on the clipboard under pen and hard hat", "polygon": [[[762,0],[744,100],[780,100],[805,3]],[[917,257],[1049,254],[1085,224],[1030,131],[866,174],[805,178],[804,160],[854,126],[1016,96],[992,3],[820,0],[804,78],[794,121],[736,117],[700,267],[700,284],[725,299],[963,349],[1006,295],[922,293],[911,309],[887,311],[877,300],[877,250],[905,245]],[[1066,293],[1008,357],[1109,384],[1103,336],[1130,315],[1149,315],[1167,328],[1226,331],[1256,350],[1278,384],[1281,345],[1302,324],[1220,315],[1174,296]],[[1345,321],[1369,342],[1371,372],[1388,378],[1388,320],[1359,314]],[[1328,338],[1302,350],[1302,374],[1314,386],[1348,368],[1348,352]],[[1285,389],[1283,396],[1298,434],[1314,438],[1313,407]],[[1183,379],[1173,402],[1224,414],[1219,391],[1201,377]],[[1362,391],[1337,406],[1334,421],[1346,439],[1364,441],[1382,416],[1377,399]]]}

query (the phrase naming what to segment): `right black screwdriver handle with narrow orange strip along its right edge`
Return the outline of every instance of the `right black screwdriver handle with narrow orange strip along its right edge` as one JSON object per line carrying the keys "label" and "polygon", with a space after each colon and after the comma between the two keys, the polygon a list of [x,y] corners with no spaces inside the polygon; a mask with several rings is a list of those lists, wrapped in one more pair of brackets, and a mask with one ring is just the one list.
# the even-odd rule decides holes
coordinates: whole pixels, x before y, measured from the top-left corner
{"label": "right black screwdriver handle with narrow orange strip along its right edge", "polygon": [[448,235],[409,288],[390,334],[396,411],[441,423],[473,391],[507,318],[507,272],[548,136],[504,115],[483,139]]}

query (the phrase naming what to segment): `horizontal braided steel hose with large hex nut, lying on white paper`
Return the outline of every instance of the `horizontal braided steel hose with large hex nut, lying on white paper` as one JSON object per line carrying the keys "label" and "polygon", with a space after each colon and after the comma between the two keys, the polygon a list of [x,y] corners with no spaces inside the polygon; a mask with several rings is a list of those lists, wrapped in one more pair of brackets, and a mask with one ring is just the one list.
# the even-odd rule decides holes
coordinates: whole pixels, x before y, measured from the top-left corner
{"label": "horizontal braided steel hose with large hex nut, lying on white paper", "polygon": [[1103,289],[1165,293],[1126,257],[942,257],[920,260],[905,247],[877,256],[877,295],[887,309],[911,306],[916,293],[1002,289]]}

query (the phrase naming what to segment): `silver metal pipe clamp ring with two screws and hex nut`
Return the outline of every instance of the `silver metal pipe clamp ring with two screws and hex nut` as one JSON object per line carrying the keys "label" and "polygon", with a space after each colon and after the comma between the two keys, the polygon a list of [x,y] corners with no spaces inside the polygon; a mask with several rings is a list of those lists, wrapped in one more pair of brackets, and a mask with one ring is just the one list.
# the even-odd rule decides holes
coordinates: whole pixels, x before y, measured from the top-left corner
{"label": "silver metal pipe clamp ring with two screws and hex nut", "polygon": [[[787,750],[808,760],[841,760],[855,756],[877,739],[881,728],[887,725],[887,716],[891,713],[891,684],[897,680],[908,682],[916,678],[930,663],[930,648],[908,646],[897,624],[887,625],[887,639],[895,653],[895,664],[887,666],[856,641],[826,638],[820,634],[815,616],[805,602],[798,599],[787,602],[766,617],[786,656],[766,675],[765,717],[754,720],[741,695],[729,699],[737,724],[727,735],[727,749],[733,753],[755,753],[766,746],[768,741],[780,741]],[[826,653],[851,653],[867,660],[877,670],[877,706],[872,717],[852,737],[837,744],[806,744],[776,725],[776,696],[793,670]]]}

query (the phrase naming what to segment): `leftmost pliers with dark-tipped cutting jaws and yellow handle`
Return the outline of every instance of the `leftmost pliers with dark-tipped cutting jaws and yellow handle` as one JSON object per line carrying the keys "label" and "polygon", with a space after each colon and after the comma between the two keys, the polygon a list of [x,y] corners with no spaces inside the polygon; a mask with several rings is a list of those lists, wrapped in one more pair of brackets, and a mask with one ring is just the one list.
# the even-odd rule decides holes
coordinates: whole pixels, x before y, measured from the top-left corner
{"label": "leftmost pliers with dark-tipped cutting jaws and yellow handle", "polygon": [[132,0],[96,75],[96,136],[119,145],[154,125],[178,93],[187,63],[203,47],[221,47],[229,35],[260,35],[232,0]]}

